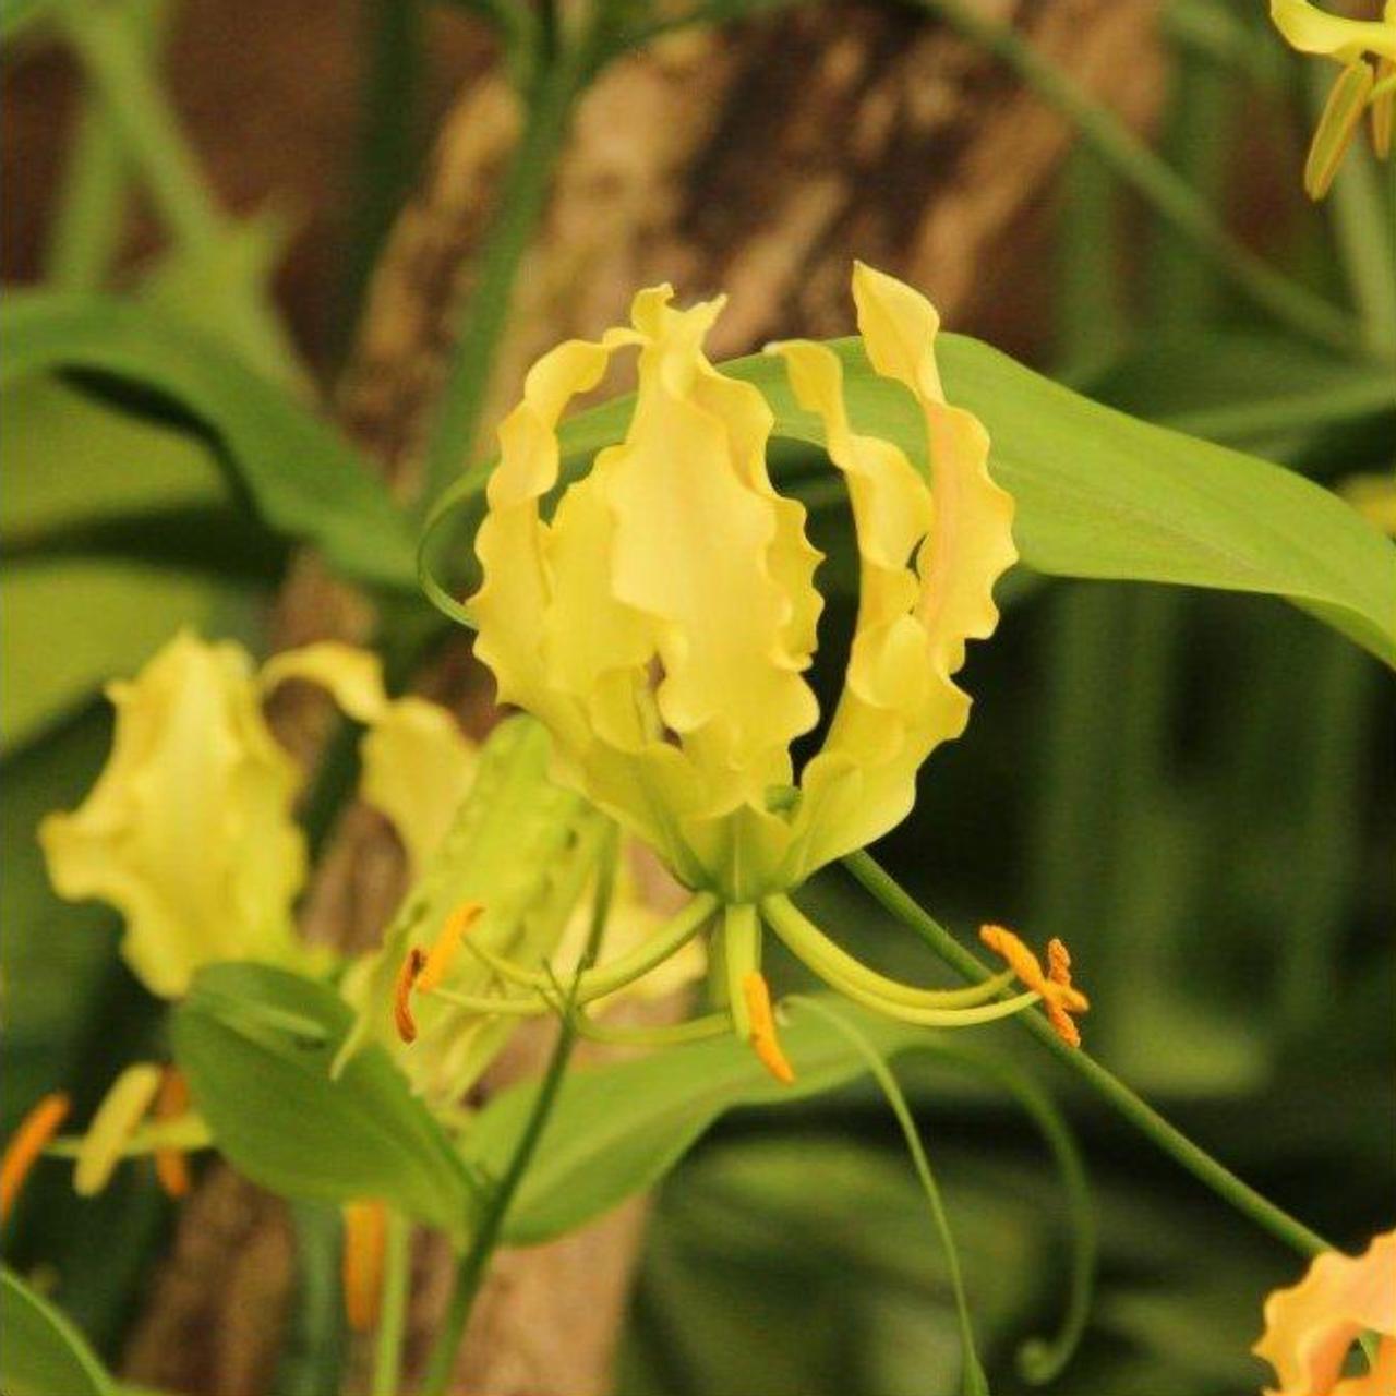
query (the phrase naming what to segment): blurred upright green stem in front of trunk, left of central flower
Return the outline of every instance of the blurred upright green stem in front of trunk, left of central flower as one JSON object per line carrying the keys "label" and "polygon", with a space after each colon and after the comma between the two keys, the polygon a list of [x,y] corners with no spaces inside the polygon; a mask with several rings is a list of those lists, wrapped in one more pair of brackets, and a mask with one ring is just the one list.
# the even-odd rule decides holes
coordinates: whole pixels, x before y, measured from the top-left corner
{"label": "blurred upright green stem in front of trunk, left of central flower", "polygon": [[[582,47],[585,45],[579,45],[579,50]],[[423,515],[473,456],[494,355],[514,299],[514,282],[547,205],[553,168],[581,89],[584,54],[579,50],[546,63],[528,91],[524,135],[510,161],[500,205],[475,268],[475,285],[465,303],[440,413],[427,441],[417,501]]]}

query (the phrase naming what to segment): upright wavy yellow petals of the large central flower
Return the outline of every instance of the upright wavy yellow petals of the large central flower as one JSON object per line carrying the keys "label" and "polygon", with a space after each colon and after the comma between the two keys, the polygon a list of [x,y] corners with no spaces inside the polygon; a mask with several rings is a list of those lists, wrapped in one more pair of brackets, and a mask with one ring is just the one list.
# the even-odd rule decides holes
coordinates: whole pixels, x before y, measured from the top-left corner
{"label": "upright wavy yellow petals of the large central flower", "polygon": [[[896,445],[849,424],[831,350],[775,346],[824,420],[861,556],[843,697],[799,780],[790,743],[819,716],[803,677],[819,554],[804,508],[771,484],[765,399],[702,352],[720,300],[676,310],[669,288],[644,290],[630,328],[546,355],[489,482],[470,611],[500,699],[551,729],[568,779],[681,882],[727,903],[797,886],[905,818],[917,768],[965,727],[952,676],[966,639],[994,630],[991,588],[1016,557],[988,437],[941,391],[935,311],[867,267],[853,295],[872,367],[921,408],[934,491]],[[546,522],[558,419],[623,348],[639,352],[625,440]]]}

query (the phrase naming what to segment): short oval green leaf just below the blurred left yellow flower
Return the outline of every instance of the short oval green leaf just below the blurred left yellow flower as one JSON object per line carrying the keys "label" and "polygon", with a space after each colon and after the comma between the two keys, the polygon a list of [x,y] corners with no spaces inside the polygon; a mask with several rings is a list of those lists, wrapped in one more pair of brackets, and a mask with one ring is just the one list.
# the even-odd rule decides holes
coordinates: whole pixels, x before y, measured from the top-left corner
{"label": "short oval green leaf just below the blurred left yellow flower", "polygon": [[473,1184],[387,1054],[367,1047],[331,1079],[350,1020],[314,980],[211,965],[174,1013],[174,1057],[218,1148],[254,1182],[289,1198],[381,1199],[461,1238]]}

